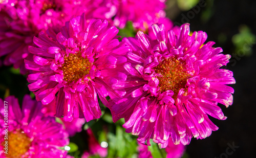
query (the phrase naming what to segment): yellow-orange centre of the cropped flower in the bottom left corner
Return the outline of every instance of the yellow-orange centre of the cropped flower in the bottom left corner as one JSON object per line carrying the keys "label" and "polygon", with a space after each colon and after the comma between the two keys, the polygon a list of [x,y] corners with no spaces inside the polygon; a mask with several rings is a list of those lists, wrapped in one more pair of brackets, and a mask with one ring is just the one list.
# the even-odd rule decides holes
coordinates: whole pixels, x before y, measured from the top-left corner
{"label": "yellow-orange centre of the cropped flower in the bottom left corner", "polygon": [[[5,141],[1,145],[4,146]],[[30,145],[30,138],[22,131],[8,132],[8,154],[5,154],[5,156],[8,158],[20,158],[29,150]]]}

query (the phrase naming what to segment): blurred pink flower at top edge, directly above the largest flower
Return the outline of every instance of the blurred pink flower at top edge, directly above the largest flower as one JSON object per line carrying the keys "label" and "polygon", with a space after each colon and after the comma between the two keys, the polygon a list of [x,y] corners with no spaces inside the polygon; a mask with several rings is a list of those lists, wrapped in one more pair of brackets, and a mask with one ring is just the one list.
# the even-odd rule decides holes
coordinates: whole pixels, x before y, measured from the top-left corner
{"label": "blurred pink flower at top edge, directly above the largest flower", "polygon": [[118,0],[114,25],[124,28],[132,21],[135,29],[147,30],[149,26],[165,17],[165,0]]}

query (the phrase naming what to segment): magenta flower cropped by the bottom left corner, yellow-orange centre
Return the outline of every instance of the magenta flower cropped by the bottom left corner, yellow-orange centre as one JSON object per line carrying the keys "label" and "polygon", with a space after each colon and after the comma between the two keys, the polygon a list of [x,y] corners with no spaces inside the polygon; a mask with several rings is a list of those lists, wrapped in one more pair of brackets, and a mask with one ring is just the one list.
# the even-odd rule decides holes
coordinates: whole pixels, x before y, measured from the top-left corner
{"label": "magenta flower cropped by the bottom left corner, yellow-orange centre", "polygon": [[[0,99],[0,157],[57,158],[67,155],[60,147],[69,144],[68,133],[54,117],[45,117],[40,111],[41,103],[29,95],[24,97],[22,110],[15,97],[9,96],[5,102]],[[8,140],[4,139],[6,132]],[[5,141],[8,141],[8,154],[4,153]]]}

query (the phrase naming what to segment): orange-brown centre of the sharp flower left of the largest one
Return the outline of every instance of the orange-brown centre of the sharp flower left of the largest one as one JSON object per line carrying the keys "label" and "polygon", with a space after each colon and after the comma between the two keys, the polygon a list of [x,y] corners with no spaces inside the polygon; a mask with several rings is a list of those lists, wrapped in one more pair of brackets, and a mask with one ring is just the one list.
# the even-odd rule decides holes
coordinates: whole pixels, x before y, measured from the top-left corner
{"label": "orange-brown centre of the sharp flower left of the largest one", "polygon": [[92,63],[88,58],[81,56],[81,53],[70,53],[64,57],[64,63],[62,65],[63,80],[67,82],[77,82],[79,79],[84,79],[91,70]]}

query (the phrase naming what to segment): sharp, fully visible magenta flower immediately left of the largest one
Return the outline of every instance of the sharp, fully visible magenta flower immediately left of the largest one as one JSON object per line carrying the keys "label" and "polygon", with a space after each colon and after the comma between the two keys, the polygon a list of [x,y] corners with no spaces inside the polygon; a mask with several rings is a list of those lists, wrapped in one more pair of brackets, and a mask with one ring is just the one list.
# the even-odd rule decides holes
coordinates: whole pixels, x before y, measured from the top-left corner
{"label": "sharp, fully visible magenta flower immediately left of the largest one", "polygon": [[[28,75],[30,91],[46,105],[57,94],[56,116],[65,121],[73,118],[97,119],[101,115],[98,98],[106,105],[108,92],[106,81],[113,77],[125,80],[122,73],[112,72],[126,58],[129,48],[116,38],[118,29],[108,26],[108,21],[82,16],[72,18],[55,37],[39,33],[29,47],[34,61],[25,60],[26,68],[34,73]],[[113,95],[115,92],[113,92]]]}

